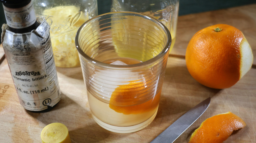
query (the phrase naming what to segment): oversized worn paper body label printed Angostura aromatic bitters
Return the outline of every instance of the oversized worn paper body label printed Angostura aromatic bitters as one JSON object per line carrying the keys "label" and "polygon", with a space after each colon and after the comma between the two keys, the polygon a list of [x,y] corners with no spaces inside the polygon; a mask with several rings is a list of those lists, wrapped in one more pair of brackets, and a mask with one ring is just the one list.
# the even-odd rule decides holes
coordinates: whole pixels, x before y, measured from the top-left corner
{"label": "oversized worn paper body label printed Angostura aromatic bitters", "polygon": [[60,89],[50,40],[43,21],[34,32],[14,34],[4,29],[3,47],[21,105],[42,111],[60,100]]}

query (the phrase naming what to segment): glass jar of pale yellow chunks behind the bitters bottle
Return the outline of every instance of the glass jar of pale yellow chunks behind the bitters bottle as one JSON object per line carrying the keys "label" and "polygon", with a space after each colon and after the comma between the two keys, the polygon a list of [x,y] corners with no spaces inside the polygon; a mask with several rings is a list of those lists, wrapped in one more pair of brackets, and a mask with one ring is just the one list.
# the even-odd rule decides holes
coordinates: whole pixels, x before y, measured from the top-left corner
{"label": "glass jar of pale yellow chunks behind the bitters bottle", "polygon": [[51,26],[53,55],[57,67],[80,66],[75,34],[88,19],[97,16],[97,0],[32,0],[35,13]]}

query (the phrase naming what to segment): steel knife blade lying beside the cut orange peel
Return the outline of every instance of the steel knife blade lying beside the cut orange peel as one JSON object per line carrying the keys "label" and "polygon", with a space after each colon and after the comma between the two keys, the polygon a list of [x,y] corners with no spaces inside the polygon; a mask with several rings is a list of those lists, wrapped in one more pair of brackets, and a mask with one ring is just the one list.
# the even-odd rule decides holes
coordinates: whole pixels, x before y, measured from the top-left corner
{"label": "steel knife blade lying beside the cut orange peel", "polygon": [[172,123],[160,135],[158,135],[151,143],[172,143],[186,129],[192,125],[208,108],[211,98],[207,98],[195,107],[183,114],[179,119]]}

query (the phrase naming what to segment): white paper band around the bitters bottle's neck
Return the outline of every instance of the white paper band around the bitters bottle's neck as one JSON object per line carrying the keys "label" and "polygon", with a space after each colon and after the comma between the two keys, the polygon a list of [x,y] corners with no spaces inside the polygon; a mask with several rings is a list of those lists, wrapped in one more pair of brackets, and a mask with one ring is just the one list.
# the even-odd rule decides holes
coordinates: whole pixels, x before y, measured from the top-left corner
{"label": "white paper band around the bitters bottle's neck", "polygon": [[7,8],[4,5],[3,8],[6,23],[11,28],[27,28],[36,22],[36,15],[32,2],[21,8]]}

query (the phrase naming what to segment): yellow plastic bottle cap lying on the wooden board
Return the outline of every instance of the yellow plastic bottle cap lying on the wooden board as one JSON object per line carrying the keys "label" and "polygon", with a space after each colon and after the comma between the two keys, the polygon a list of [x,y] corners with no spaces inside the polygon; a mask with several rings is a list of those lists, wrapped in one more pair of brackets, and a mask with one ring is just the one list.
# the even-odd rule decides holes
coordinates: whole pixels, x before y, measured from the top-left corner
{"label": "yellow plastic bottle cap lying on the wooden board", "polygon": [[51,123],[41,132],[43,143],[71,143],[68,128],[62,123]]}

